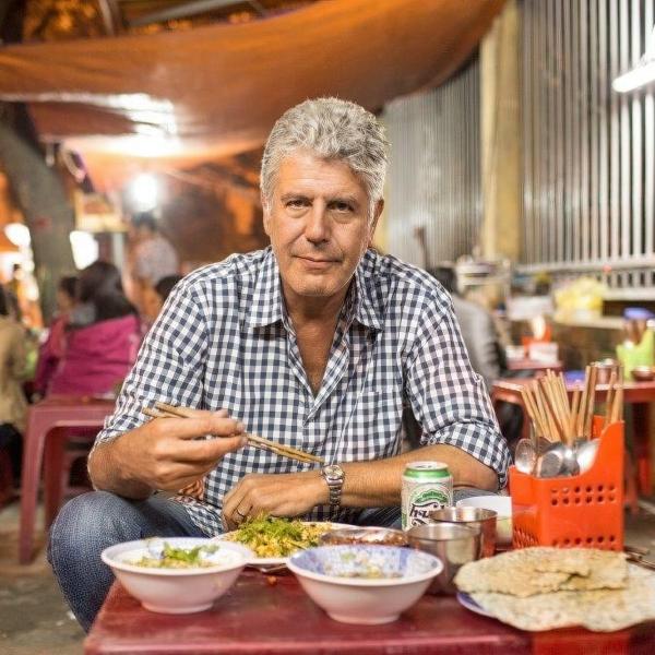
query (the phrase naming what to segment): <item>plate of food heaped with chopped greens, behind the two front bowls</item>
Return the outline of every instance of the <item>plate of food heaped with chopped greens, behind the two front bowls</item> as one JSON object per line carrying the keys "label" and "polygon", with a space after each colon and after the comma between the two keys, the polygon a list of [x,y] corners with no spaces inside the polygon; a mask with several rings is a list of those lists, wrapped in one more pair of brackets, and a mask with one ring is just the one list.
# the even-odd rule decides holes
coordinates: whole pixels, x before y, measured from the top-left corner
{"label": "plate of food heaped with chopped greens, behind the two front bowls", "polygon": [[278,567],[285,564],[294,552],[318,546],[321,535],[341,527],[353,526],[264,515],[249,519],[237,529],[214,539],[234,541],[250,548],[255,555],[250,564]]}

